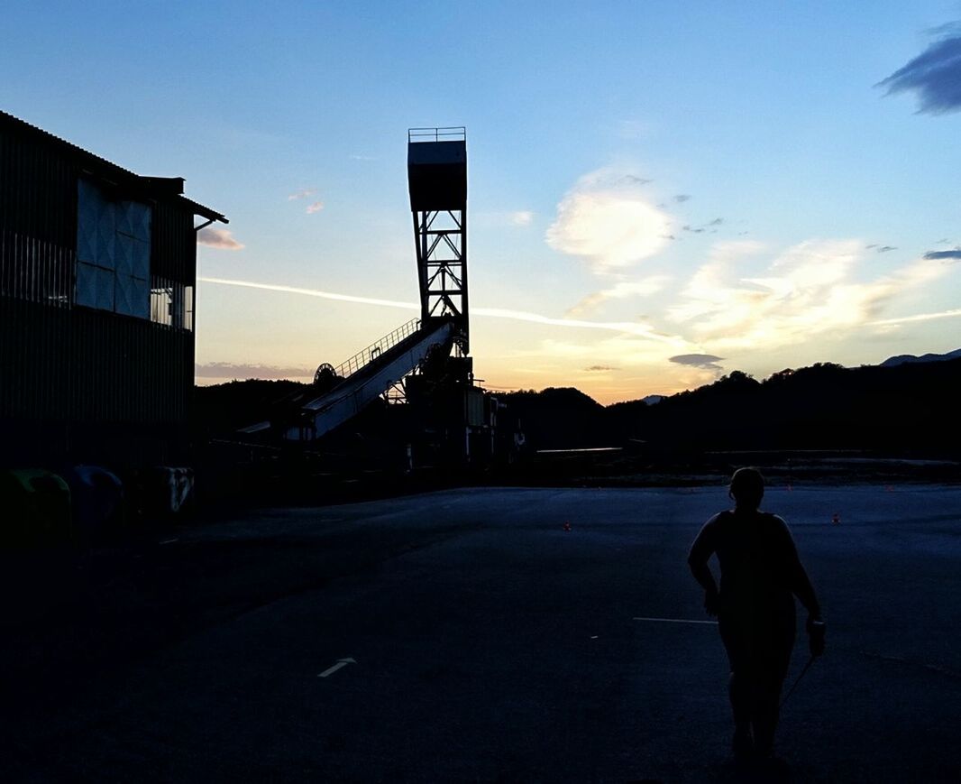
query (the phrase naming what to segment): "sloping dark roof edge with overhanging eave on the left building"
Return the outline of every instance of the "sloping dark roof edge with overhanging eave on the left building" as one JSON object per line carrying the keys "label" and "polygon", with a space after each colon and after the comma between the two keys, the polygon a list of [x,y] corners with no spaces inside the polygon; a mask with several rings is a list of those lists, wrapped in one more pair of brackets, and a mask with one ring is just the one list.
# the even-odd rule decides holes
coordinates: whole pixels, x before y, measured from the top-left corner
{"label": "sloping dark roof edge with overhanging eave on the left building", "polygon": [[155,199],[175,201],[190,210],[194,215],[201,215],[208,220],[229,222],[224,215],[186,198],[184,194],[183,177],[142,177],[129,169],[112,164],[106,158],[101,158],[83,147],[78,147],[66,139],[54,136],[36,125],[31,125],[19,117],[0,111],[0,129],[10,131],[21,136],[37,139],[44,144],[55,147],[62,155],[73,159],[82,170],[107,182],[124,185]]}

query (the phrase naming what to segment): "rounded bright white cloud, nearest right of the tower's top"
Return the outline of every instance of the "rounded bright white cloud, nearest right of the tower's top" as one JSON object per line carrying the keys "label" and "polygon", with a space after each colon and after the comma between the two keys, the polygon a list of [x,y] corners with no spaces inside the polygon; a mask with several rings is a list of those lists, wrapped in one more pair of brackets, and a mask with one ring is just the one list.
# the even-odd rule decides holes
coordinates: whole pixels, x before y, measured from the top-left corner
{"label": "rounded bright white cloud, nearest right of the tower's top", "polygon": [[637,182],[611,169],[581,177],[557,205],[547,243],[600,274],[656,254],[668,242],[671,217],[651,204]]}

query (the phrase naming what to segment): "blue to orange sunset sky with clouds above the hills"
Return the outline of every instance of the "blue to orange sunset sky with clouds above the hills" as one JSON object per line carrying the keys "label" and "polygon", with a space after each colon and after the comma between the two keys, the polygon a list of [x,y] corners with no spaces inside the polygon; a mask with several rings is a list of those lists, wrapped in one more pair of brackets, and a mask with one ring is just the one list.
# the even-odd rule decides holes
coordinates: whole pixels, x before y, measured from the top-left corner
{"label": "blue to orange sunset sky with clouds above the hills", "polygon": [[0,108],[230,218],[197,382],[417,316],[407,128],[463,125],[471,353],[603,403],[961,347],[961,3],[13,4]]}

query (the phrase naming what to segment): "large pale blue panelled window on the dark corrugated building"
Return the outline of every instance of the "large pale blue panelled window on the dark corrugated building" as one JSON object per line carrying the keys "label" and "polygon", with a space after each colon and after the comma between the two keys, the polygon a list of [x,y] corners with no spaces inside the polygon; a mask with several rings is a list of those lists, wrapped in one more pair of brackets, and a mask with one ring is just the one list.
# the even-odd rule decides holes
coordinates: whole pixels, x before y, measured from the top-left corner
{"label": "large pale blue panelled window on the dark corrugated building", "polygon": [[124,316],[150,316],[151,220],[148,205],[111,200],[92,183],[80,181],[77,305]]}

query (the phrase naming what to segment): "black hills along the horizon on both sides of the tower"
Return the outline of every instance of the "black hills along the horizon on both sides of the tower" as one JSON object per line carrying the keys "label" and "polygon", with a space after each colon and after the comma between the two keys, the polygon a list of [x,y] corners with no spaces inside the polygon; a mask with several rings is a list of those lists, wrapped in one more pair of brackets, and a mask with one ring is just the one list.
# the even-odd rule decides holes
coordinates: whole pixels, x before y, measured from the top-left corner
{"label": "black hills along the horizon on both sides of the tower", "polygon": [[[200,387],[198,435],[225,434],[269,416],[306,385],[284,381]],[[638,445],[658,451],[859,449],[961,452],[952,423],[961,359],[894,366],[818,363],[758,381],[735,370],[696,390],[603,406],[574,388],[499,395],[532,449]]]}

